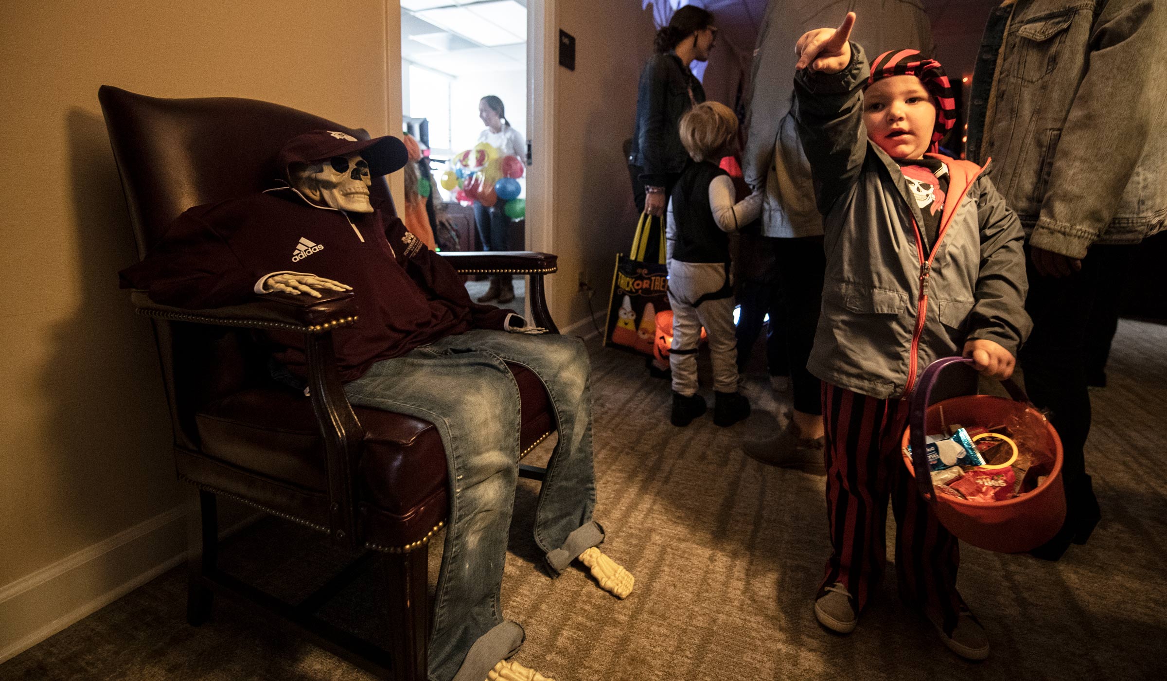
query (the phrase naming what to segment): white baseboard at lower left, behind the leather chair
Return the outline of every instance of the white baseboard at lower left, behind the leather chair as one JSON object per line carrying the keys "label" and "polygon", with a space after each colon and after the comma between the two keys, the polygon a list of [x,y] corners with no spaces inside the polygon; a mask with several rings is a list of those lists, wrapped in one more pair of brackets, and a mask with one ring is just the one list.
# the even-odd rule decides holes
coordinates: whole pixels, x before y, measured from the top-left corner
{"label": "white baseboard at lower left, behind the leather chair", "polygon": [[186,553],[186,507],[177,506],[0,586],[0,663],[177,567]]}

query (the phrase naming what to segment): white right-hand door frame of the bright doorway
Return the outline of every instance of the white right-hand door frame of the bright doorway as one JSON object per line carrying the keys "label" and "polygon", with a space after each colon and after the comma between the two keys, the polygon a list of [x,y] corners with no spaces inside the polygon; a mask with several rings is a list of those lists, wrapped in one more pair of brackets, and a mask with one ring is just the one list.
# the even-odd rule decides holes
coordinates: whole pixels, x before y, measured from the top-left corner
{"label": "white right-hand door frame of the bright doorway", "polygon": [[[531,165],[526,168],[526,248],[555,252],[555,79],[559,69],[557,0],[526,2],[526,130]],[[544,279],[554,315],[555,277]]]}

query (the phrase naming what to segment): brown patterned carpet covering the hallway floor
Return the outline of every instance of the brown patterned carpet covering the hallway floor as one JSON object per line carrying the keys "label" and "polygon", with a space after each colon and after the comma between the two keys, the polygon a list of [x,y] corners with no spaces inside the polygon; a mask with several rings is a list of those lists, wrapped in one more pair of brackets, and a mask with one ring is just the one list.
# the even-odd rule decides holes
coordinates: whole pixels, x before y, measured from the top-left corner
{"label": "brown patterned carpet covering the hallway floor", "polygon": [[[959,586],[993,645],[981,663],[952,655],[900,604],[894,579],[850,637],[816,624],[811,598],[827,553],[823,479],[767,468],[738,447],[777,428],[785,406],[762,376],[749,377],[759,409],[749,421],[719,429],[706,416],[675,429],[668,384],[647,377],[637,357],[596,348],[598,519],[605,550],[636,575],[636,591],[619,602],[578,570],[545,577],[526,531],[537,486],[523,481],[503,585],[505,612],[527,634],[517,659],[559,681],[1162,679],[1163,348],[1167,327],[1123,321],[1110,387],[1092,394],[1088,466],[1105,517],[1088,546],[1057,563],[962,548]],[[265,520],[230,541],[225,563],[294,598],[340,564],[319,543]],[[342,593],[330,619],[382,635],[377,575]],[[210,623],[189,627],[183,599],[184,575],[174,570],[0,666],[0,679],[369,677],[222,599]]]}

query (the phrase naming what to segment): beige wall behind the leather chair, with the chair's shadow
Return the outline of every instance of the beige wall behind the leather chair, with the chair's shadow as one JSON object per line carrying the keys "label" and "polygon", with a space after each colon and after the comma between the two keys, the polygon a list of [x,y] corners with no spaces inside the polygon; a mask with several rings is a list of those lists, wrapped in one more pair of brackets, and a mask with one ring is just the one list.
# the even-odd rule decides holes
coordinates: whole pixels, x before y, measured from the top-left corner
{"label": "beige wall behind the leather chair, with the chair's shadow", "polygon": [[179,500],[149,325],[117,289],[134,248],[98,86],[252,97],[384,134],[400,107],[385,6],[0,4],[0,588]]}

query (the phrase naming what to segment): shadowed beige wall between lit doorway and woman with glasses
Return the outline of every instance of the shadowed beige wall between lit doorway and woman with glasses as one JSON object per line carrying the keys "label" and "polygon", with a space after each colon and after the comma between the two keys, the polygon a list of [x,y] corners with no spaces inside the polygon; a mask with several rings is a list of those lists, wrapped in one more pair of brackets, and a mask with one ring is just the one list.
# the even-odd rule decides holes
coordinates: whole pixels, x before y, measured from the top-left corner
{"label": "shadowed beige wall between lit doorway and woman with glasses", "polygon": [[564,327],[588,313],[576,286],[580,270],[595,289],[593,308],[606,310],[616,251],[631,245],[637,216],[622,146],[633,134],[636,85],[655,27],[651,11],[636,0],[560,0],[557,12],[559,28],[575,36],[575,70],[555,67],[559,273],[552,311]]}

